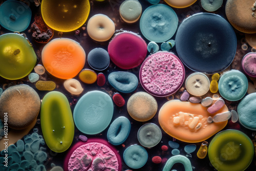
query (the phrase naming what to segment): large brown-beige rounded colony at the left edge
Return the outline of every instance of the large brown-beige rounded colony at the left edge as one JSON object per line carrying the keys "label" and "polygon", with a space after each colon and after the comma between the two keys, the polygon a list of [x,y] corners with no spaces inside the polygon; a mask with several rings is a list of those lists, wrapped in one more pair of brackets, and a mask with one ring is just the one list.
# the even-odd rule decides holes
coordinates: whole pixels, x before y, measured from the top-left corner
{"label": "large brown-beige rounded colony at the left edge", "polygon": [[40,98],[36,91],[25,84],[12,86],[0,96],[0,118],[5,120],[8,113],[8,126],[21,130],[30,126],[40,111]]}

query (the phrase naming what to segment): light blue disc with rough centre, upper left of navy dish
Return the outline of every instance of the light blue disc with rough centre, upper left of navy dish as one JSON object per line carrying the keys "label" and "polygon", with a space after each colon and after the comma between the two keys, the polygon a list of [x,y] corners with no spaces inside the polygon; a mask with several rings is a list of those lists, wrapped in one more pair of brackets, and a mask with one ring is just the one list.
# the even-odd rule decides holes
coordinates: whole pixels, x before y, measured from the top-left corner
{"label": "light blue disc with rough centre, upper left of navy dish", "polygon": [[150,41],[167,41],[173,37],[177,28],[178,17],[175,11],[164,4],[148,7],[140,18],[140,31]]}

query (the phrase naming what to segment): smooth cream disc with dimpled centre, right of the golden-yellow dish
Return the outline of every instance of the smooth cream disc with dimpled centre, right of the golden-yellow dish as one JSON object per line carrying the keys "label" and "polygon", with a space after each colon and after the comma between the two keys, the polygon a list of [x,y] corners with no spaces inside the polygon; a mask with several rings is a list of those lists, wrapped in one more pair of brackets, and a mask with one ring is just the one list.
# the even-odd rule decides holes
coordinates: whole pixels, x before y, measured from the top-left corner
{"label": "smooth cream disc with dimpled centre, right of the golden-yellow dish", "polygon": [[103,14],[92,16],[87,25],[89,36],[96,41],[109,40],[115,32],[114,22]]}

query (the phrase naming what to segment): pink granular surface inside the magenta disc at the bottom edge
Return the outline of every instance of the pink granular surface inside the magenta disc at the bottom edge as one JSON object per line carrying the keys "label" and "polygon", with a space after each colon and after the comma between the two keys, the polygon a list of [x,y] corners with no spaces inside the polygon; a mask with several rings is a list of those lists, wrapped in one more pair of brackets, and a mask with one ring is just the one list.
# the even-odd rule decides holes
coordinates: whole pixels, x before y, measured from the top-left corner
{"label": "pink granular surface inside the magenta disc at the bottom edge", "polygon": [[87,143],[72,153],[68,170],[115,171],[118,170],[118,159],[108,146],[97,142]]}

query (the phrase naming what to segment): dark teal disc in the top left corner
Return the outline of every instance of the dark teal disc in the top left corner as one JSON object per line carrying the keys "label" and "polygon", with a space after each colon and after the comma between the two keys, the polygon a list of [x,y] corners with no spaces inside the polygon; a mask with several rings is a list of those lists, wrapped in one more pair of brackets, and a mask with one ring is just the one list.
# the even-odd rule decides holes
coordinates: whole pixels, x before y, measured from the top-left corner
{"label": "dark teal disc in the top left corner", "polygon": [[30,24],[32,12],[26,4],[9,0],[0,6],[0,25],[4,28],[22,32]]}

